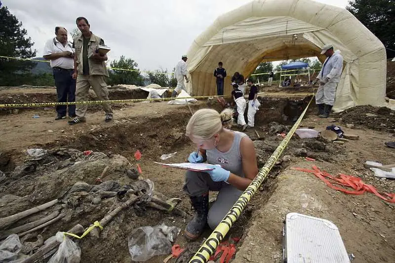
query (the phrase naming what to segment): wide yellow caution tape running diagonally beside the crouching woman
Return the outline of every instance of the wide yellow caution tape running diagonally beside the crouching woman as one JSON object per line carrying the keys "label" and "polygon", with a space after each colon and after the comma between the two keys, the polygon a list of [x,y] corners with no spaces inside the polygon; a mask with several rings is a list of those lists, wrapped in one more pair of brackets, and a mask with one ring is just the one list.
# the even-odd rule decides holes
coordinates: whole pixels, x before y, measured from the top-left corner
{"label": "wide yellow caution tape running diagonally beside the crouching woman", "polygon": [[301,123],[313,98],[310,100],[309,104],[303,111],[302,115],[300,115],[299,119],[294,124],[292,129],[288,132],[285,138],[278,145],[275,152],[272,154],[272,156],[269,158],[266,164],[259,171],[258,175],[254,178],[254,180],[252,180],[251,184],[247,187],[247,189],[243,192],[243,194],[237,199],[236,203],[232,206],[228,214],[226,214],[224,219],[218,224],[218,226],[211,233],[211,235],[200,246],[200,248],[197,250],[197,253],[190,260],[189,263],[206,263],[209,260],[210,256],[214,254],[218,244],[231,229],[232,225],[236,222],[237,218],[241,215],[241,212],[244,210],[251,197],[256,193],[256,191],[258,191],[258,188],[269,174],[270,170],[276,163],[282,151],[287,146],[293,133],[299,127],[299,124]]}

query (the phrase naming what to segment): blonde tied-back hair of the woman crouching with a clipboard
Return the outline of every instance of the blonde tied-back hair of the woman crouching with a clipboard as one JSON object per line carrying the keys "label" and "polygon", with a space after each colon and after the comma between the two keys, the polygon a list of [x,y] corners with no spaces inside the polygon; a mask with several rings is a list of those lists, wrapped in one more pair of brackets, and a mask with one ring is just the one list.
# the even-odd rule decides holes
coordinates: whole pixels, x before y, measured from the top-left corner
{"label": "blonde tied-back hair of the woman crouching with a clipboard", "polygon": [[214,109],[199,109],[189,120],[185,135],[207,140],[221,132],[223,126],[232,124],[232,116],[232,109],[224,109],[221,113]]}

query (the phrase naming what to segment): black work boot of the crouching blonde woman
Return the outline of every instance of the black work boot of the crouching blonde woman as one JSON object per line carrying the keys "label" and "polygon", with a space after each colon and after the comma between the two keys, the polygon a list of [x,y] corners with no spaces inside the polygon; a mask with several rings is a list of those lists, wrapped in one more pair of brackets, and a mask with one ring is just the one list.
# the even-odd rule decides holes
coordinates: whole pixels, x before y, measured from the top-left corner
{"label": "black work boot of the crouching blonde woman", "polygon": [[200,236],[207,224],[208,193],[190,198],[192,206],[195,208],[195,215],[194,218],[189,221],[184,236],[188,240],[194,241]]}

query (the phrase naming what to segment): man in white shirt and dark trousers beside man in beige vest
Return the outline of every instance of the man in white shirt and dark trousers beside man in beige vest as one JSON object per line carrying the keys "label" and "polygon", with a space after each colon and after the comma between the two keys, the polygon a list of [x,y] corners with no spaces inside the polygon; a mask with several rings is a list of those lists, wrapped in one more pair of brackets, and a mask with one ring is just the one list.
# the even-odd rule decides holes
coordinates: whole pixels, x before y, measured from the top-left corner
{"label": "man in white shirt and dark trousers beside man in beige vest", "polygon": [[[58,102],[76,101],[76,80],[73,79],[74,51],[72,44],[67,41],[67,30],[62,27],[55,28],[55,37],[49,39],[44,47],[43,58],[51,61],[53,78],[55,79]],[[76,105],[69,106],[69,117],[76,117]],[[66,118],[66,105],[56,106],[55,120]]]}

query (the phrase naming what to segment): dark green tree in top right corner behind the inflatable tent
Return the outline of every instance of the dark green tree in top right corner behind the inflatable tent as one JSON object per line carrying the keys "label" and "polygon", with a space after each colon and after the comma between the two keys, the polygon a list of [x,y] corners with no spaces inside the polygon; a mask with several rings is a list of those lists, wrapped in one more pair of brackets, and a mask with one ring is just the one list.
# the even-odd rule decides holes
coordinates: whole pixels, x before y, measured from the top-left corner
{"label": "dark green tree in top right corner behind the inflatable tent", "polygon": [[395,56],[395,1],[351,0],[346,7],[387,48],[387,57]]}

